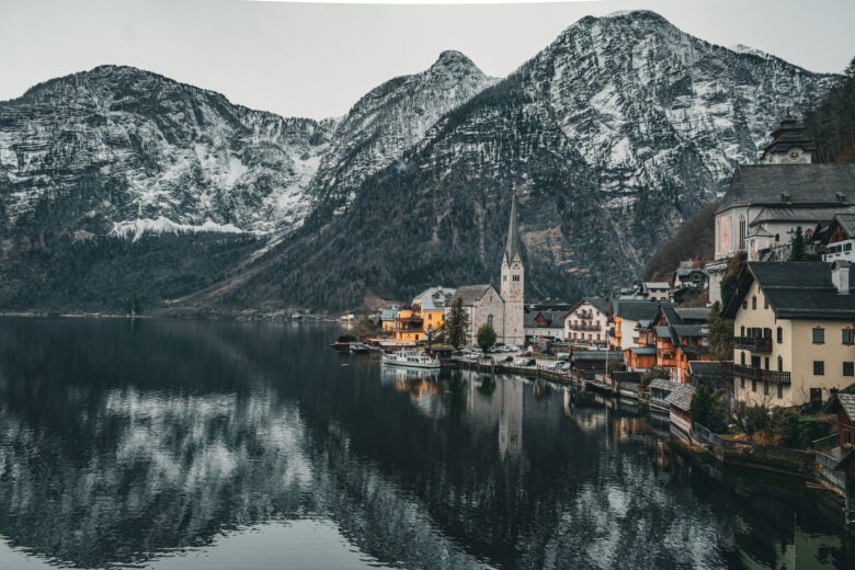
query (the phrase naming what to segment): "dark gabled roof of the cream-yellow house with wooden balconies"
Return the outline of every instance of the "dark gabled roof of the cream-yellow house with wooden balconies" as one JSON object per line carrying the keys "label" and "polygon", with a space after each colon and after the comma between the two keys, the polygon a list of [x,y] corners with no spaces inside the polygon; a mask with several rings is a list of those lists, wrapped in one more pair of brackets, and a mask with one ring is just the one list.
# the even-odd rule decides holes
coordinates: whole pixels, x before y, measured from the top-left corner
{"label": "dark gabled roof of the cream-yellow house with wooden balconies", "polygon": [[855,319],[855,278],[850,278],[850,294],[840,295],[831,281],[831,264],[819,261],[748,263],[722,311],[725,318],[736,317],[754,281],[777,319]]}

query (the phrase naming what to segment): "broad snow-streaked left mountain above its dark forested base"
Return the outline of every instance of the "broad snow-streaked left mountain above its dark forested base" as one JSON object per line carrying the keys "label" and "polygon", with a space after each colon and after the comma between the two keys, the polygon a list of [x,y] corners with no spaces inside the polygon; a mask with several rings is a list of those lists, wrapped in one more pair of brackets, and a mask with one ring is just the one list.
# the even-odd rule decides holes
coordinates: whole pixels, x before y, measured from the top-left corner
{"label": "broad snow-streaked left mountain above its dark forested base", "polygon": [[[103,66],[0,103],[5,232],[118,233],[299,225],[332,122],[283,118],[130,67]],[[41,209],[39,209],[41,208]],[[61,220],[56,214],[61,213]]]}

